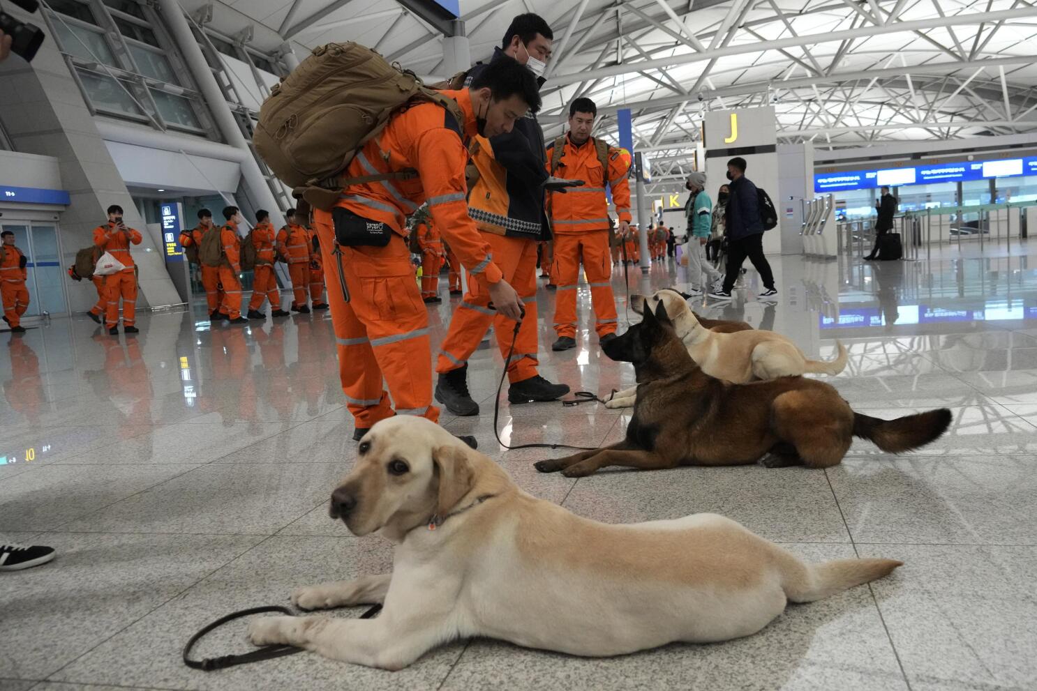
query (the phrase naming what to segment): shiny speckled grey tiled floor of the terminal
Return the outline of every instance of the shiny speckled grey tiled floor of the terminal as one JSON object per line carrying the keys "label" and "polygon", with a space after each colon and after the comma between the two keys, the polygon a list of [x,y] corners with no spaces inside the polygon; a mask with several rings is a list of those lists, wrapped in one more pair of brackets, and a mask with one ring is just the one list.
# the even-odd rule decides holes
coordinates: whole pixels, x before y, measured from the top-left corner
{"label": "shiny speckled grey tiled floor of the terminal", "polygon": [[[532,462],[552,452],[505,452],[494,438],[501,362],[496,349],[479,351],[470,383],[482,414],[443,424],[475,434],[538,496],[610,522],[717,512],[806,558],[905,562],[870,586],[790,606],[749,638],[606,660],[466,640],[395,673],[310,654],[188,669],[180,649],[216,616],[390,569],[387,543],[327,517],[356,445],[331,322],[211,329],[181,312],[145,315],[131,339],[102,336],[84,317],[0,335],[0,541],[58,549],[49,565],[0,574],[0,689],[1037,688],[1033,256],[1013,242],[893,264],[775,258],[777,303],[750,290],[700,305],[779,330],[812,355],[831,356],[841,339],[850,363],[832,383],[859,410],[954,411],[949,433],[919,453],[856,442],[829,470],[539,474]],[[747,279],[758,287],[752,270]],[[683,281],[672,264],[632,275],[643,290]],[[623,320],[618,269],[615,283]],[[553,299],[540,291],[541,314]],[[584,324],[589,301],[583,286]],[[450,311],[431,311],[433,343]],[[564,353],[551,352],[553,336],[541,325],[548,378],[598,394],[633,381],[586,328]],[[626,422],[594,403],[501,405],[509,443],[602,443]],[[199,653],[245,650],[244,632],[228,626]]]}

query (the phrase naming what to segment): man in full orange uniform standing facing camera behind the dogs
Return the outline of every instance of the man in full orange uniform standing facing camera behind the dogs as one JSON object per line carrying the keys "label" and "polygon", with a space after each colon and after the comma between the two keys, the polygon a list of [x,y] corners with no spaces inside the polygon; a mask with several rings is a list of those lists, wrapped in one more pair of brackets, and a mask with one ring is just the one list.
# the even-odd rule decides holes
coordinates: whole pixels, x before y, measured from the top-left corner
{"label": "man in full orange uniform standing facing camera behind the dogs", "polygon": [[[555,333],[552,350],[568,350],[577,345],[577,283],[583,262],[596,321],[598,341],[616,338],[616,298],[612,294],[612,262],[609,252],[609,200],[606,185],[619,213],[619,228],[630,223],[630,188],[626,173],[630,157],[622,149],[606,147],[590,136],[597,107],[590,98],[577,98],[569,107],[569,134],[548,148],[552,174],[583,180],[566,194],[551,193],[548,206],[555,228],[555,260],[552,276],[558,282],[555,298]],[[559,154],[558,147],[561,148]],[[601,161],[605,153],[605,162]],[[561,157],[559,157],[559,155]],[[555,165],[557,163],[557,166]],[[608,163],[605,167],[602,164]]]}

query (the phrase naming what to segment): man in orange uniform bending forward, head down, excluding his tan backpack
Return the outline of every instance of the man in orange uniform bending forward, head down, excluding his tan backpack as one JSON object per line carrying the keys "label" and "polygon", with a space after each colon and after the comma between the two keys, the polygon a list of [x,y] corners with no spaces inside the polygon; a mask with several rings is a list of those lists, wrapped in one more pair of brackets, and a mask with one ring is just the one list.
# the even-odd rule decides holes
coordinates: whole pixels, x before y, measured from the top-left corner
{"label": "man in orange uniform bending forward, head down, excluding his tan backpack", "polygon": [[399,111],[345,173],[361,177],[414,169],[417,177],[348,184],[333,212],[313,211],[331,285],[339,376],[357,439],[392,416],[393,406],[395,414],[439,420],[440,410],[431,404],[431,363],[425,355],[430,351],[428,311],[403,241],[407,214],[427,202],[432,222],[472,277],[472,288],[488,295],[508,318],[522,314],[518,294],[503,280],[489,244],[469,218],[469,154],[463,139],[510,132],[527,110],[539,108],[536,82],[511,61],[487,67],[470,89],[442,93],[457,102],[461,122],[431,103]]}

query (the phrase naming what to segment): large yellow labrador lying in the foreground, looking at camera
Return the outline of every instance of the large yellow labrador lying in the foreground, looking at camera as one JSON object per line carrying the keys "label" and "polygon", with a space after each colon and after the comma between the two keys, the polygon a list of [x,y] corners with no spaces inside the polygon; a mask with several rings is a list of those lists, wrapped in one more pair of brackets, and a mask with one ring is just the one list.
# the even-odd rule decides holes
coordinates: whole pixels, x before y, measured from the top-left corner
{"label": "large yellow labrador lying in the foreground, looking at camera", "polygon": [[457,638],[571,655],[756,633],[791,602],[889,574],[891,559],[805,564],[713,514],[609,525],[518,489],[492,460],[423,418],[374,425],[332,518],[396,543],[393,573],[303,587],[303,609],[385,603],[372,620],[254,620],[257,645],[401,669]]}

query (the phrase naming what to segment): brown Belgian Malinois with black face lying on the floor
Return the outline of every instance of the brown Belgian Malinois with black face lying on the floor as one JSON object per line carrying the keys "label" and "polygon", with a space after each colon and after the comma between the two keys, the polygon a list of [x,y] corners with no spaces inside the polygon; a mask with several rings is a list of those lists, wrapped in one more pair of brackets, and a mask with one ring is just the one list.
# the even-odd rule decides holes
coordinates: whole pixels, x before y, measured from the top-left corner
{"label": "brown Belgian Malinois with black face lying on the floor", "polygon": [[896,420],[854,412],[830,384],[803,377],[732,384],[695,364],[660,303],[653,313],[602,345],[615,361],[633,363],[638,393],[634,419],[619,443],[539,461],[541,472],[589,476],[610,465],[654,470],[678,465],[768,468],[839,463],[852,437],[900,453],[938,438],[951,423],[947,408]]}

